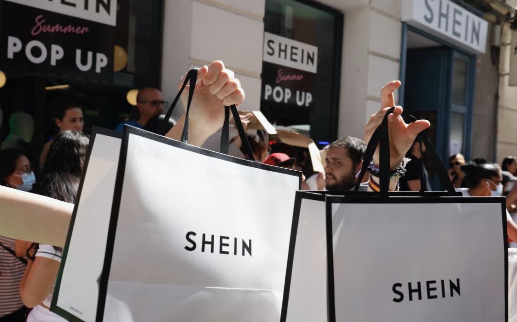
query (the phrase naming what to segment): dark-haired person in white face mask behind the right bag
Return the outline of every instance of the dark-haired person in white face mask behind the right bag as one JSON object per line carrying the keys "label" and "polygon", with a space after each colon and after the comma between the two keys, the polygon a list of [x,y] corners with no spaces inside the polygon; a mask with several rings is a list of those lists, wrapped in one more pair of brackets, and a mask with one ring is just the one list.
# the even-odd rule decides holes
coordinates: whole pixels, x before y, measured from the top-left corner
{"label": "dark-haired person in white face mask behind the right bag", "polygon": [[[463,192],[463,197],[500,197],[503,195],[503,174],[497,164],[468,163],[461,166],[465,173],[464,183],[467,188],[457,188]],[[517,225],[506,211],[506,227],[508,241],[517,241]],[[511,240],[510,240],[511,239]]]}

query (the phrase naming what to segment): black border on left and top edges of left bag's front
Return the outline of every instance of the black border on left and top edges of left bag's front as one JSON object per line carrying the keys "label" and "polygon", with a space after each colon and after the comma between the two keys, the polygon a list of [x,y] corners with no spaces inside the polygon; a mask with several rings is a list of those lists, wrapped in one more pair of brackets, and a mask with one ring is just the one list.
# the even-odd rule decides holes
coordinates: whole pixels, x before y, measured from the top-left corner
{"label": "black border on left and top edges of left bag's front", "polygon": [[253,162],[250,160],[245,160],[241,158],[237,158],[234,156],[229,156],[226,154],[206,150],[199,147],[191,146],[190,144],[180,142],[171,138],[167,138],[161,135],[157,135],[154,133],[150,133],[144,130],[141,130],[140,128],[136,128],[129,125],[124,125],[124,134],[122,138],[122,143],[120,145],[120,157],[118,160],[118,169],[117,169],[117,175],[115,180],[115,192],[113,194],[113,205],[111,210],[111,218],[110,218],[110,226],[108,228],[108,241],[106,244],[106,252],[104,256],[104,266],[102,268],[102,273],[99,278],[99,302],[97,304],[97,317],[96,322],[102,322],[103,316],[104,316],[104,309],[105,309],[105,302],[108,292],[108,281],[110,278],[110,270],[111,270],[111,261],[113,256],[113,248],[115,245],[115,234],[117,230],[117,222],[118,222],[118,212],[120,209],[120,198],[122,196],[122,187],[124,185],[124,174],[126,170],[126,158],[127,158],[127,150],[128,150],[128,141],[129,141],[129,135],[137,135],[141,136],[150,140],[158,141],[160,143],[165,143],[170,146],[184,149],[187,151],[199,153],[205,156],[218,158],[221,160],[226,160],[232,163],[249,166],[253,168],[258,168],[262,170],[277,172],[277,173],[283,173],[283,174],[289,174],[294,175],[298,177],[298,189],[301,187],[301,172],[290,170],[290,169],[284,169],[280,167],[270,166],[263,163]]}

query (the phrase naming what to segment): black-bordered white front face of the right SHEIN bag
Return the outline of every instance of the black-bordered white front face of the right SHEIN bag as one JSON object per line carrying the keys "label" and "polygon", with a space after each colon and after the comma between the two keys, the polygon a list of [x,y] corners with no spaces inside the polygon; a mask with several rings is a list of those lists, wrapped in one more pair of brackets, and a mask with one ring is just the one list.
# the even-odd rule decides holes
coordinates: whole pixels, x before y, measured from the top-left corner
{"label": "black-bordered white front face of the right SHEIN bag", "polygon": [[507,321],[504,198],[326,202],[330,321]]}

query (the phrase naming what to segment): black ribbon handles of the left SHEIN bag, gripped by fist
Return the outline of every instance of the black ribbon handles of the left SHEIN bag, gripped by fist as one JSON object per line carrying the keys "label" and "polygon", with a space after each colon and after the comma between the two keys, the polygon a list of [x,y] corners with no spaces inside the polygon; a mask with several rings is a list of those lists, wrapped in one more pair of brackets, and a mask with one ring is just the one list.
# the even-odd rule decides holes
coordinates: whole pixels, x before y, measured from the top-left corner
{"label": "black ribbon handles of the left SHEIN bag, gripped by fist", "polygon": [[[181,93],[183,93],[183,90],[187,86],[187,83],[189,83],[190,88],[195,88],[197,82],[197,68],[192,68],[187,73],[187,76],[185,77],[185,81],[183,82],[183,85],[181,85],[181,89],[179,90],[178,94],[176,95],[176,98],[172,102],[171,107],[166,112],[165,117],[161,121],[158,127],[158,134],[165,135],[167,131],[167,126],[169,124],[169,119],[171,118],[172,112],[174,108],[176,107],[176,104],[179,101],[179,98],[181,96]],[[189,138],[189,112],[190,112],[190,104],[192,102],[192,97],[194,96],[194,90],[189,90],[189,98],[187,101],[187,112],[185,113],[185,125],[183,127],[183,132],[181,133],[181,142],[188,143]],[[248,155],[248,158],[252,161],[255,160],[253,157],[253,152],[251,150],[250,142],[248,141],[248,137],[246,135],[246,131],[244,130],[244,126],[242,126],[242,122],[239,117],[239,112],[237,111],[237,107],[235,105],[232,106],[225,106],[224,107],[224,123],[221,130],[221,144],[220,144],[220,151],[221,153],[228,154],[230,150],[230,110],[232,111],[233,118],[235,119],[235,125],[237,126],[237,131],[239,133],[240,140],[242,141],[242,147],[244,148],[246,154]]]}

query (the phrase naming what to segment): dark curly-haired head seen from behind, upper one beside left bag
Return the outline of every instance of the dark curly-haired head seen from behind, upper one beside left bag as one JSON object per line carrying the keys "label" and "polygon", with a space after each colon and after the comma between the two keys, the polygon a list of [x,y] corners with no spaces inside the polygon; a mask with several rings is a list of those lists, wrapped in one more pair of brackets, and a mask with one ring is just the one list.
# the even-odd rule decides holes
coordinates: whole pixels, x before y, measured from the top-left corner
{"label": "dark curly-haired head seen from behind, upper one beside left bag", "polygon": [[50,144],[43,174],[62,171],[80,178],[89,141],[83,132],[68,130],[58,134]]}

